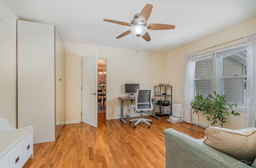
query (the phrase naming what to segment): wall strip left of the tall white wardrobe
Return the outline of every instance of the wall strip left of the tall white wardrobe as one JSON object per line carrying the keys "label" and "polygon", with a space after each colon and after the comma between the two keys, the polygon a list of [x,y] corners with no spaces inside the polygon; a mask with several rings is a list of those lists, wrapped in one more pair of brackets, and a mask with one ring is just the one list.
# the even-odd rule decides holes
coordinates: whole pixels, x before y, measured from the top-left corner
{"label": "wall strip left of the tall white wardrobe", "polygon": [[0,1],[0,117],[16,128],[16,19]]}

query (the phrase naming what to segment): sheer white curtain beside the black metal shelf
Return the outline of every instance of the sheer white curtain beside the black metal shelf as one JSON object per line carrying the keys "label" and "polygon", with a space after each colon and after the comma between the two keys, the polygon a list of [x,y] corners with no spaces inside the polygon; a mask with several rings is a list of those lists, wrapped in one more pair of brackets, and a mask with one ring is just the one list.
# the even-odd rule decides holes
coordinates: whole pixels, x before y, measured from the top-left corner
{"label": "sheer white curtain beside the black metal shelf", "polygon": [[[184,99],[184,121],[191,123],[191,105],[189,102],[194,97],[194,77],[195,77],[195,66],[196,66],[196,55],[197,53],[190,53],[186,55],[186,69],[183,80],[183,99]],[[193,123],[196,123],[196,116],[192,115]]]}

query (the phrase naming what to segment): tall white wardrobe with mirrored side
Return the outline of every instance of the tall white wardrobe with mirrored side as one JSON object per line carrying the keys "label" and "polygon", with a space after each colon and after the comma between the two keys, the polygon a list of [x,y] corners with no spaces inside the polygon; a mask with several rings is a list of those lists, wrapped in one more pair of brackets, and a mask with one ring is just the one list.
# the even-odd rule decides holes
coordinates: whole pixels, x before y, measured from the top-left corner
{"label": "tall white wardrobe with mirrored side", "polygon": [[64,124],[64,43],[53,25],[17,20],[18,128],[34,144],[54,141]]}

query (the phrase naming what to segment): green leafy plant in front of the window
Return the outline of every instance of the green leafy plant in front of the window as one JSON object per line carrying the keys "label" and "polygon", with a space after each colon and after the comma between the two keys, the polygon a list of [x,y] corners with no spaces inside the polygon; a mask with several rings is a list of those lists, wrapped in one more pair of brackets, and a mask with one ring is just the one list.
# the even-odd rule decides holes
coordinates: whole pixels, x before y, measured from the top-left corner
{"label": "green leafy plant in front of the window", "polygon": [[[193,113],[198,113],[198,111],[202,111],[203,115],[207,115],[207,120],[211,121],[211,125],[219,123],[221,127],[226,122],[229,122],[226,118],[230,113],[233,115],[240,115],[239,113],[235,113],[232,107],[236,107],[236,103],[229,103],[224,100],[225,95],[216,94],[214,91],[214,96],[208,95],[204,98],[202,95],[196,95],[190,104],[194,109]],[[232,110],[230,112],[230,110]]]}

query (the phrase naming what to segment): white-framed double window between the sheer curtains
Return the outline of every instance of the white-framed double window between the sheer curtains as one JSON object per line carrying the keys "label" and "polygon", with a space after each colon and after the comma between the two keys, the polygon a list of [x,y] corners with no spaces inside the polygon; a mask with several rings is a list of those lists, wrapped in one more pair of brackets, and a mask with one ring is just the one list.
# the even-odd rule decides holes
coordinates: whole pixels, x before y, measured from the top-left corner
{"label": "white-framed double window between the sheer curtains", "polygon": [[246,63],[245,43],[196,56],[195,95],[216,91],[228,102],[245,105]]}

